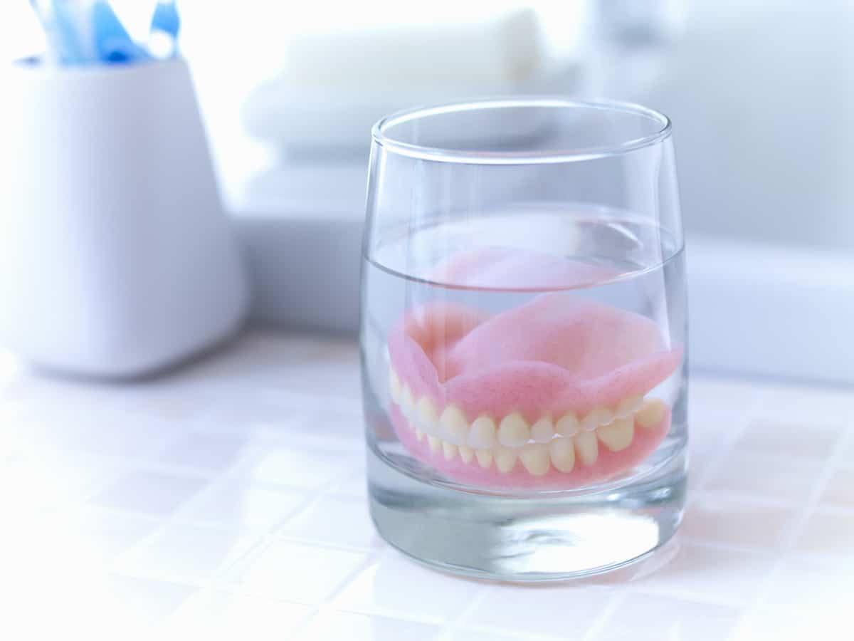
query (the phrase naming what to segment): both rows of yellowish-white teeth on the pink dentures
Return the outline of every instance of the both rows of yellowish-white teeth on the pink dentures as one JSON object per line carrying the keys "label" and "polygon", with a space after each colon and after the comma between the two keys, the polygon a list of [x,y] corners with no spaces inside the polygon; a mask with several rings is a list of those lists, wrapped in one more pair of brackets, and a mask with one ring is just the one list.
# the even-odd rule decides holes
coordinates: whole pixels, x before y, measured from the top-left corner
{"label": "both rows of yellowish-white teeth on the pink dentures", "polygon": [[465,463],[477,459],[481,468],[490,468],[494,462],[502,473],[510,472],[519,460],[535,476],[548,473],[551,466],[571,472],[576,459],[593,465],[599,457],[599,441],[612,452],[626,449],[635,437],[635,425],[655,426],[667,409],[658,399],[636,396],[613,409],[593,409],[581,419],[566,412],[558,420],[543,416],[529,426],[514,412],[497,423],[480,415],[470,425],[456,405],[447,405],[440,413],[430,398],[416,400],[394,369],[389,370],[389,391],[418,440],[426,438],[434,454],[441,451],[447,461],[457,456]]}

